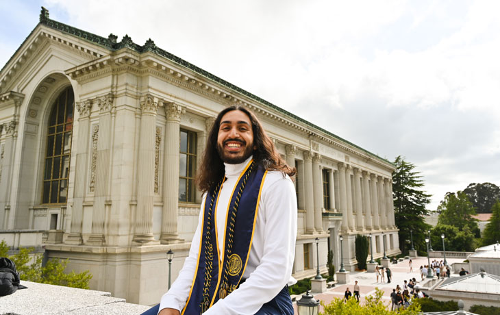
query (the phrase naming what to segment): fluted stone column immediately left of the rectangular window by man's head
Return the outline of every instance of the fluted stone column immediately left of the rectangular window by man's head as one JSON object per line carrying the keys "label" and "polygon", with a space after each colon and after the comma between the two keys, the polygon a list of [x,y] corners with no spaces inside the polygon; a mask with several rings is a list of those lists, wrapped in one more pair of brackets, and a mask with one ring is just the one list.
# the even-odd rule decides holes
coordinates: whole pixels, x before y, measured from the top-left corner
{"label": "fluted stone column immediately left of the rectangular window by man's head", "polygon": [[183,108],[179,104],[165,104],[165,159],[162,211],[162,244],[180,242],[177,234],[179,216],[179,148],[180,123]]}

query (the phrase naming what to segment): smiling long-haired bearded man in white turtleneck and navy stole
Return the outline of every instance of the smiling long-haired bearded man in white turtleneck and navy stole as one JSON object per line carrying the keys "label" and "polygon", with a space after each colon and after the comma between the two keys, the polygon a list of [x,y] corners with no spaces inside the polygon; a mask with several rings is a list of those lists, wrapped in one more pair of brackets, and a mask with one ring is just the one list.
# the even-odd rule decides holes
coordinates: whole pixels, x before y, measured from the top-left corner
{"label": "smiling long-haired bearded man in white turtleneck and navy stole", "polygon": [[218,114],[199,169],[198,227],[159,315],[293,314],[294,174],[253,113]]}

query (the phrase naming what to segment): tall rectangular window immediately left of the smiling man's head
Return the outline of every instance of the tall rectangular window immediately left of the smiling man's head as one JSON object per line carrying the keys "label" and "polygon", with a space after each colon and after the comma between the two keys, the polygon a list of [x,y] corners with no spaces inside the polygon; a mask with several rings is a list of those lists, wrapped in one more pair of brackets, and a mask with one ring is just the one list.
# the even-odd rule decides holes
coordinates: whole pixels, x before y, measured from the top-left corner
{"label": "tall rectangular window immediately left of the smiling man's head", "polygon": [[197,135],[193,131],[181,130],[179,154],[179,201],[195,202]]}

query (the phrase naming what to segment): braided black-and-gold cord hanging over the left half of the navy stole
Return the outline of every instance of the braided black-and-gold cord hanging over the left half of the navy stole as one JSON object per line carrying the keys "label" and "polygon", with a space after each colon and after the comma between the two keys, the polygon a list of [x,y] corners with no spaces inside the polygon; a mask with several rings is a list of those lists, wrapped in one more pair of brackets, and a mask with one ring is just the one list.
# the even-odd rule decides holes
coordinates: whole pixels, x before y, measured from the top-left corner
{"label": "braided black-and-gold cord hanging over the left half of the navy stole", "polygon": [[[207,220],[207,236],[205,237],[205,281],[203,282],[203,301],[201,301],[201,313],[206,312],[208,307],[210,307],[210,283],[212,282],[212,270],[214,269],[214,252],[212,244],[210,244],[211,239],[211,229],[212,229],[212,211],[214,210],[215,196],[218,194],[224,179],[222,179],[212,194],[210,199],[210,207],[208,208],[208,220]],[[218,259],[218,258],[217,258]]]}

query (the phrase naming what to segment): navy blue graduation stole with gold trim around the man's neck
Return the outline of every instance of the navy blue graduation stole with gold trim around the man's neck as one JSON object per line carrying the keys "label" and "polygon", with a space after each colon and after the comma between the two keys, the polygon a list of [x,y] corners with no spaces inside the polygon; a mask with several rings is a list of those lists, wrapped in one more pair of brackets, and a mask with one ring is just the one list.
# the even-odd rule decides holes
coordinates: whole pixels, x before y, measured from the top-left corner
{"label": "navy blue graduation stole with gold trim around the man's neck", "polygon": [[262,166],[257,166],[251,160],[238,178],[229,199],[221,263],[216,238],[215,209],[223,180],[213,191],[208,192],[203,206],[197,268],[186,307],[182,310],[183,315],[202,314],[218,299],[224,299],[238,287],[247,267],[266,173]]}

